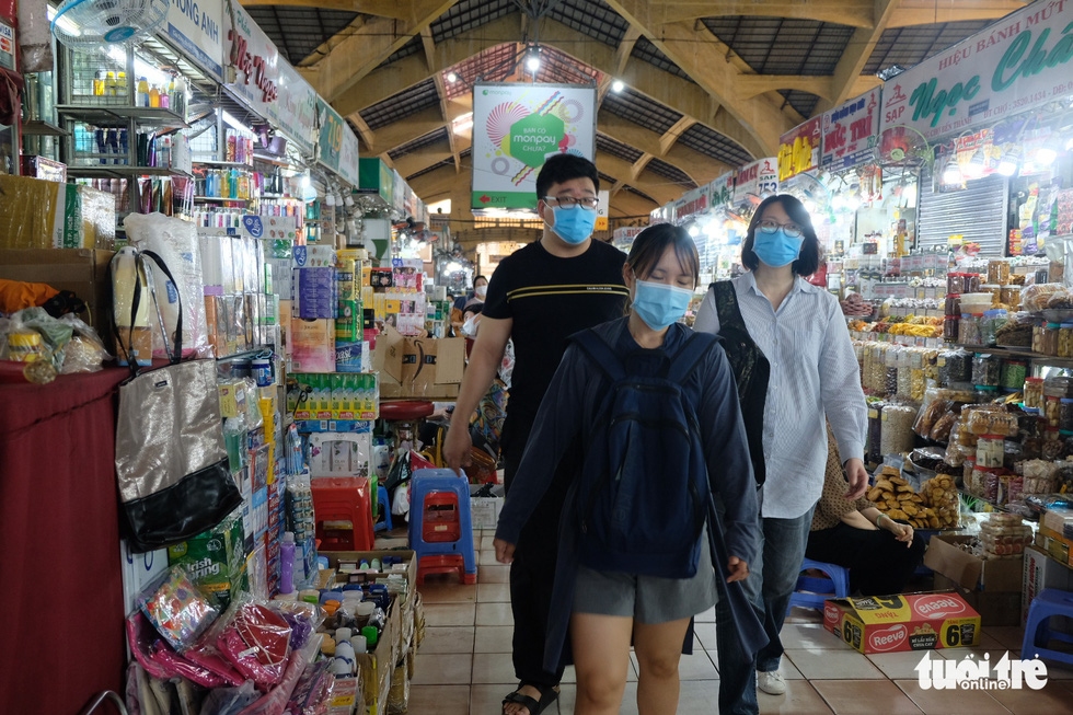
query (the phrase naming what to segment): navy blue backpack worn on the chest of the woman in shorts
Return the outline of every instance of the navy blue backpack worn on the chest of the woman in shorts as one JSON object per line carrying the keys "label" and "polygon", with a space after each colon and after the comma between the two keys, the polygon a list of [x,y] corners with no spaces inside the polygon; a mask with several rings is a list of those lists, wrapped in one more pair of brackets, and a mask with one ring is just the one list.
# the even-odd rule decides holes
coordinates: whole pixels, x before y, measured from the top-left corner
{"label": "navy blue backpack worn on the chest of the woman in shorts", "polygon": [[682,385],[718,338],[691,334],[657,377],[627,374],[592,330],[570,339],[610,382],[578,482],[581,563],[664,578],[694,576],[711,488],[695,406]]}

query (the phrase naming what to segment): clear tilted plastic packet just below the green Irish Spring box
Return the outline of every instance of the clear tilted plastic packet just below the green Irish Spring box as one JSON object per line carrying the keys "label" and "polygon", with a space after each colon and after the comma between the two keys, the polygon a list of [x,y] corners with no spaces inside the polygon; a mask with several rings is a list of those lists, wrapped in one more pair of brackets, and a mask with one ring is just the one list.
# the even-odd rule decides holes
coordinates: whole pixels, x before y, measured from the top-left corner
{"label": "clear tilted plastic packet just below the green Irish Spring box", "polygon": [[138,607],[180,653],[193,646],[219,616],[181,566],[172,566],[154,579],[138,597]]}

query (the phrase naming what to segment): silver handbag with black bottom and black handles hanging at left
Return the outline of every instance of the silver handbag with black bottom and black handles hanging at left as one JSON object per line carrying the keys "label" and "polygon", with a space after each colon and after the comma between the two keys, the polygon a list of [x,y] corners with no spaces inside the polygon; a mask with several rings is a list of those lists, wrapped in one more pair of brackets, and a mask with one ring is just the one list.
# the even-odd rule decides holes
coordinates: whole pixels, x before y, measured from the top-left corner
{"label": "silver handbag with black bottom and black handles hanging at left", "polygon": [[[174,285],[171,272],[155,253],[142,251],[136,260],[147,274],[151,270],[149,262],[157,264]],[[155,307],[151,278],[148,285],[148,298]],[[137,315],[141,300],[141,284],[135,280],[131,315]],[[168,331],[159,308],[157,315],[168,350]],[[116,344],[123,349],[123,341]],[[116,478],[130,547],[139,553],[177,544],[211,529],[242,503],[223,442],[216,360],[183,362],[182,354],[180,301],[169,364],[142,370],[128,356],[130,378],[119,385]]]}

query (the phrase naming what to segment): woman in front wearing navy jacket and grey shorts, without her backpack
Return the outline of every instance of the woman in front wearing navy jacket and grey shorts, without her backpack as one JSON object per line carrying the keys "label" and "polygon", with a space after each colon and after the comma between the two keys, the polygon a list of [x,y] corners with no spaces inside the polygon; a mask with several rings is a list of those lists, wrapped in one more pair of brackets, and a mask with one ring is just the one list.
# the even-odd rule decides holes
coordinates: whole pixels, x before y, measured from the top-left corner
{"label": "woman in front wearing navy jacket and grey shorts, without her backpack", "polygon": [[[580,550],[586,555],[579,555],[578,545],[587,543],[577,527],[584,507],[581,499],[573,496],[576,489],[567,493],[544,667],[551,670],[561,665],[568,630],[577,670],[574,712],[578,715],[619,712],[631,643],[639,665],[638,712],[676,713],[678,664],[690,619],[723,600],[720,592],[732,591],[728,598],[740,603],[737,612],[745,615],[738,625],[749,631],[751,624],[751,637],[762,637],[761,624],[738,583],[748,575],[754,557],[758,507],[734,377],[716,341],[695,335],[678,322],[689,307],[697,273],[696,247],[683,229],[665,223],[645,230],[623,267],[632,303],[628,315],[598,325],[592,332],[621,357],[623,371],[638,378],[656,377],[673,365],[690,338],[704,341],[706,349],[682,380],[681,390],[696,416],[712,492],[719,493],[728,505],[726,517],[722,524],[707,523],[701,533],[695,576],[643,575],[641,564],[632,564],[636,572],[623,573],[605,568],[609,558],[599,549],[593,554],[587,546]],[[582,451],[590,448],[609,380],[587,349],[572,342],[541,403],[499,517],[495,547],[500,562],[512,561],[522,527],[552,483],[561,455],[573,443],[580,443]],[[601,445],[607,449],[605,442],[596,441],[592,449]],[[659,480],[661,475],[650,476]],[[709,542],[709,534],[725,534],[725,541]]]}

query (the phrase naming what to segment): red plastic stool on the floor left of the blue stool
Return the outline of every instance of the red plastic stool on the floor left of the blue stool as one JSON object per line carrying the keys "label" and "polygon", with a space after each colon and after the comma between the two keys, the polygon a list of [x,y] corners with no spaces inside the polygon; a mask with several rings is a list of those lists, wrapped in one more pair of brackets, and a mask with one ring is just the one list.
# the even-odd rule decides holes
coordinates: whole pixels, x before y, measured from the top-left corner
{"label": "red plastic stool on the floor left of the blue stool", "polygon": [[[316,538],[324,551],[371,551],[372,498],[369,480],[364,476],[321,476],[310,483],[313,492],[313,515]],[[344,535],[337,529],[326,529],[325,521],[346,521],[350,528]]]}

